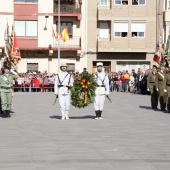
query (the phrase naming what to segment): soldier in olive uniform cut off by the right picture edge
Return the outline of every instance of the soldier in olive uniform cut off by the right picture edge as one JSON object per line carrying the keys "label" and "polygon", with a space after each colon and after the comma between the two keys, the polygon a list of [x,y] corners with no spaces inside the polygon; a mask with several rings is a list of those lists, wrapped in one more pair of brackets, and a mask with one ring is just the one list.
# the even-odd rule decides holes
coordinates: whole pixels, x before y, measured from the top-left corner
{"label": "soldier in olive uniform cut off by the right picture edge", "polygon": [[164,92],[167,93],[167,98],[166,98],[167,110],[170,113],[170,68],[165,75]]}

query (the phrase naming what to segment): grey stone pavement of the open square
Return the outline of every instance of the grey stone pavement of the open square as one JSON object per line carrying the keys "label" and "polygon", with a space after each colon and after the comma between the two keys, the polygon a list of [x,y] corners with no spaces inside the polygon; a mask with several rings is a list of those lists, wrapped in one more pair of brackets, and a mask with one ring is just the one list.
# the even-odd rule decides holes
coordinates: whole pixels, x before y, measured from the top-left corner
{"label": "grey stone pavement of the open square", "polygon": [[150,96],[112,93],[103,120],[93,105],[60,120],[53,93],[16,93],[0,118],[0,170],[170,170],[170,114]]}

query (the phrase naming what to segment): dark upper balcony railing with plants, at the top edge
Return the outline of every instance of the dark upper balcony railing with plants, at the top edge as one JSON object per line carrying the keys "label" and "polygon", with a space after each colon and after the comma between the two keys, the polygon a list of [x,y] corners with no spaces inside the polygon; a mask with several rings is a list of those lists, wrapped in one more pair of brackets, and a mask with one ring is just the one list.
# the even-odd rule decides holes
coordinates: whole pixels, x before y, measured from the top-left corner
{"label": "dark upper balcony railing with plants, at the top edge", "polygon": [[[54,8],[54,12],[58,12],[58,5]],[[77,4],[61,4],[60,5],[60,12],[61,13],[81,13],[81,5]]]}

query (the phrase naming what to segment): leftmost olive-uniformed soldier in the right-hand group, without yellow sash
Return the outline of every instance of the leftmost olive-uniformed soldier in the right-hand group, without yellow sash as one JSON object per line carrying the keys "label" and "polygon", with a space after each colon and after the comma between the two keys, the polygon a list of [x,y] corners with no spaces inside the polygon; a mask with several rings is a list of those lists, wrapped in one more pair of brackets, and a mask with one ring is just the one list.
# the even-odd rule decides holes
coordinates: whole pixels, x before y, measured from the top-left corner
{"label": "leftmost olive-uniformed soldier in the right-hand group, without yellow sash", "polygon": [[150,71],[147,79],[147,90],[150,91],[151,106],[152,109],[154,109],[155,111],[157,111],[157,107],[158,107],[158,92],[155,86],[156,74],[157,74],[157,67],[153,65],[153,68]]}

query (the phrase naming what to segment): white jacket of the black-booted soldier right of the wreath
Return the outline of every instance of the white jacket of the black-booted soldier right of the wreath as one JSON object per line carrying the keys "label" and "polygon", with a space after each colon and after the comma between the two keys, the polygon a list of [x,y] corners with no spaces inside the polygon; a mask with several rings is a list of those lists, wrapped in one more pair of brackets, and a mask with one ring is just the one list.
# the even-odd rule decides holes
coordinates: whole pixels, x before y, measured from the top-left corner
{"label": "white jacket of the black-booted soldier right of the wreath", "polygon": [[[96,82],[99,87],[96,88],[95,94],[109,94],[109,78],[104,72],[95,73]],[[105,87],[101,87],[104,85]]]}

